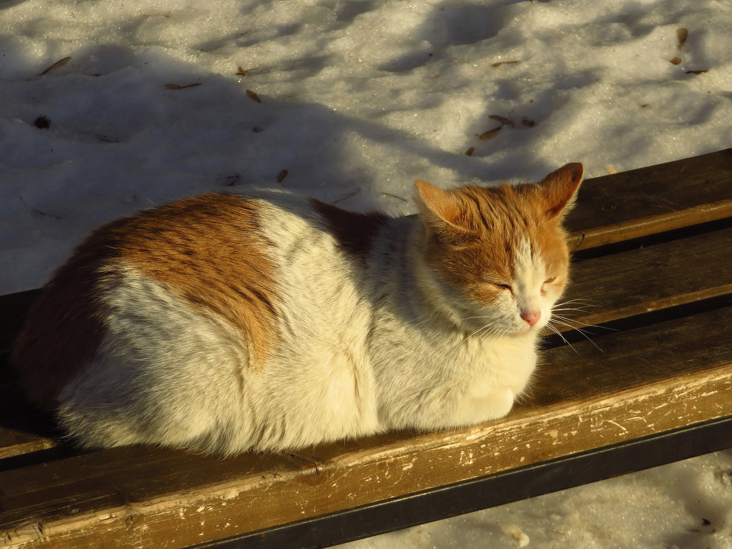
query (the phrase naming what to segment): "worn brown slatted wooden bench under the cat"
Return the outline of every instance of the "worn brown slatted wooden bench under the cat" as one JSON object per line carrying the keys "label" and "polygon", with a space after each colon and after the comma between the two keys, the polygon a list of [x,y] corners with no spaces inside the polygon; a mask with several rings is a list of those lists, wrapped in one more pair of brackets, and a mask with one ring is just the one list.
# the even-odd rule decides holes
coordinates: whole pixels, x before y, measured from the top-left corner
{"label": "worn brown slatted wooden bench under the cat", "polygon": [[550,337],[526,402],[292,455],[60,444],[7,365],[37,291],[4,296],[0,547],[326,547],[732,447],[731,216],[730,151],[590,179],[567,307],[603,327]]}

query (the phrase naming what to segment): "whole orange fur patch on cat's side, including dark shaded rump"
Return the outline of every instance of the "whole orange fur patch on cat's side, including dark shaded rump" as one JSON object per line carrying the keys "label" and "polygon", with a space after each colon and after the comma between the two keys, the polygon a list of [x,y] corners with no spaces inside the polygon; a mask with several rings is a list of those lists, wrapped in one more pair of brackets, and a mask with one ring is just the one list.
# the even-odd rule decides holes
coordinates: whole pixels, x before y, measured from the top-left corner
{"label": "whole orange fur patch on cat's side, including dark shaded rump", "polygon": [[264,362],[275,340],[277,295],[257,209],[253,200],[212,194],[97,229],[46,285],[15,344],[12,362],[29,395],[55,399],[94,359],[105,335],[99,299],[119,283],[121,262],[224,318],[248,341],[251,362]]}

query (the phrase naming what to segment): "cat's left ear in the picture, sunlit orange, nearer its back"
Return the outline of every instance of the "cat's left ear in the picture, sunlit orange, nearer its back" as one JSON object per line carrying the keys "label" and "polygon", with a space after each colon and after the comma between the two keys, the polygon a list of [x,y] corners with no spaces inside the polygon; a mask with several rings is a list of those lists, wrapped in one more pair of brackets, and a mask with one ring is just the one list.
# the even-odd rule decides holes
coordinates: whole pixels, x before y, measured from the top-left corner
{"label": "cat's left ear in the picture, sunlit orange, nearer its back", "polygon": [[428,230],[454,244],[471,238],[471,231],[465,225],[462,203],[455,193],[421,179],[414,181],[414,188],[417,190],[414,201]]}

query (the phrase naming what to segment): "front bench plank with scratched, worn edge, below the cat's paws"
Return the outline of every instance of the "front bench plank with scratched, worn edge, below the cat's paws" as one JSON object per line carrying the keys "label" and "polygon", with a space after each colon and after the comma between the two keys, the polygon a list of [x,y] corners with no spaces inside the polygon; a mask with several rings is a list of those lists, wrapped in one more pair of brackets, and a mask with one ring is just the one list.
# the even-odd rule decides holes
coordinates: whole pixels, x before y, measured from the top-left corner
{"label": "front bench plank with scratched, worn edge, below the cat's paws", "polygon": [[[732,414],[732,308],[548,352],[498,422],[215,460],[121,448],[0,473],[0,543],[181,548]],[[165,539],[165,542],[161,539]],[[161,545],[163,544],[163,545]]]}

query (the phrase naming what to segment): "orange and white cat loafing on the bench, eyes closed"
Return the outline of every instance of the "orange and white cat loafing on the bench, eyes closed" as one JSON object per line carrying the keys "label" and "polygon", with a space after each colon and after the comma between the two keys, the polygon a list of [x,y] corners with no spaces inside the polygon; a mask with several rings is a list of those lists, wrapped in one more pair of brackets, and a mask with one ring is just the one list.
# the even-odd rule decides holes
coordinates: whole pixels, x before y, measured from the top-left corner
{"label": "orange and white cat loafing on the bench, eyes closed", "polygon": [[283,190],[143,210],[77,247],[12,362],[82,447],[283,452],[504,417],[567,283],[582,179],[417,181],[407,217]]}

